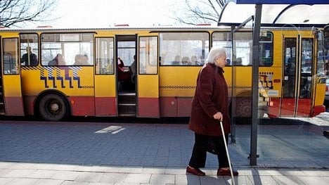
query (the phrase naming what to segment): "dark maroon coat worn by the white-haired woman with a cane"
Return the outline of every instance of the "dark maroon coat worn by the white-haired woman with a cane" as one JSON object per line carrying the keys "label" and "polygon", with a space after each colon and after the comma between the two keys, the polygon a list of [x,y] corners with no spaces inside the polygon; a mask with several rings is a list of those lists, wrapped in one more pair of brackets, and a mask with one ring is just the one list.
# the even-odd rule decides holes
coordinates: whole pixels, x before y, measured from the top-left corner
{"label": "dark maroon coat worn by the white-haired woman with a cane", "polygon": [[224,132],[231,132],[231,119],[228,114],[228,89],[223,69],[207,63],[202,67],[197,79],[197,87],[192,102],[191,119],[188,128],[197,134],[221,136],[219,120],[214,114],[223,115]]}

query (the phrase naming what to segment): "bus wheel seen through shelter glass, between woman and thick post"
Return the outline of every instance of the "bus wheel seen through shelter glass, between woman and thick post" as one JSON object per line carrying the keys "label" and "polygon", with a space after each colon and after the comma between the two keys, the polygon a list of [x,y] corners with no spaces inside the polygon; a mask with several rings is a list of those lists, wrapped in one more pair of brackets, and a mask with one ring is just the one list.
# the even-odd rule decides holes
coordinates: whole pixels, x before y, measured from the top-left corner
{"label": "bus wheel seen through shelter glass, between woman and thick post", "polygon": [[252,116],[252,101],[250,98],[240,98],[236,102],[236,121],[238,124],[250,125]]}

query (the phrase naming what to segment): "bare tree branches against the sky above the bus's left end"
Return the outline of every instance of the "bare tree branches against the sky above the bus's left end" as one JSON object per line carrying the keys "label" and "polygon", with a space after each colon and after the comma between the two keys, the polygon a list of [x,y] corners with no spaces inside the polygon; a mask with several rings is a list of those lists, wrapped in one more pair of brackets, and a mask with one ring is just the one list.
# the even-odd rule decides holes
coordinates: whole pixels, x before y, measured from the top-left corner
{"label": "bare tree branches against the sky above the bus's left end", "polygon": [[56,0],[0,0],[0,25],[23,27],[56,20],[51,15],[56,6]]}

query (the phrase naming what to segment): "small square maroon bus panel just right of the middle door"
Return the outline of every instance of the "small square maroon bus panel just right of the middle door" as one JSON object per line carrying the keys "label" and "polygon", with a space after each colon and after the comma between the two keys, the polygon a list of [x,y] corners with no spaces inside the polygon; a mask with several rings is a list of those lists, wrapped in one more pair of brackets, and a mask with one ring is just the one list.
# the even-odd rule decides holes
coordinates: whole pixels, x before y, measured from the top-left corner
{"label": "small square maroon bus panel just right of the middle door", "polygon": [[177,99],[174,97],[160,98],[160,117],[177,116]]}

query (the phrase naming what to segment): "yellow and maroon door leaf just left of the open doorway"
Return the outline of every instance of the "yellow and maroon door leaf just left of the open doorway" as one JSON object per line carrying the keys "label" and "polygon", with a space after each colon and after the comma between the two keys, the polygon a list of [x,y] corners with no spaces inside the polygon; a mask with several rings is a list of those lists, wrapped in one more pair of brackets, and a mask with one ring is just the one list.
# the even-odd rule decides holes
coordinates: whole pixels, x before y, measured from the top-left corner
{"label": "yellow and maroon door leaf just left of the open doorway", "polygon": [[96,37],[95,114],[117,116],[115,37]]}

